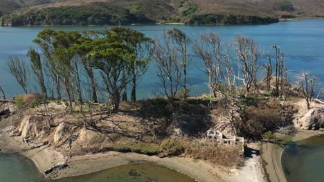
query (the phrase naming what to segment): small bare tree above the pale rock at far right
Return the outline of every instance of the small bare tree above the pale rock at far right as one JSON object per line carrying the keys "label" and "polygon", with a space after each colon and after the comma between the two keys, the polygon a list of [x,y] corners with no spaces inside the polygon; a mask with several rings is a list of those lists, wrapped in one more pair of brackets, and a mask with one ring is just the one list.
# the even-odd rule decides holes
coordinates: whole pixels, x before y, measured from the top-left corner
{"label": "small bare tree above the pale rock at far right", "polygon": [[312,101],[314,101],[315,78],[310,77],[309,72],[301,72],[298,75],[298,85],[309,110]]}

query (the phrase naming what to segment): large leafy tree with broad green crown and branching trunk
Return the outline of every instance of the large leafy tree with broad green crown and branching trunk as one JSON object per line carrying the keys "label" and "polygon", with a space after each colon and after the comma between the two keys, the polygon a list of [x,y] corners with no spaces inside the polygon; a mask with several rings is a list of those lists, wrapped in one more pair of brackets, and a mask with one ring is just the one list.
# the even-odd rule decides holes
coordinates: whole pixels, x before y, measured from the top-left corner
{"label": "large leafy tree with broad green crown and branching trunk", "polygon": [[105,37],[94,39],[90,55],[94,58],[94,68],[100,71],[113,111],[118,112],[121,92],[132,80],[131,65],[136,56],[129,46],[120,42],[116,32],[106,32]]}

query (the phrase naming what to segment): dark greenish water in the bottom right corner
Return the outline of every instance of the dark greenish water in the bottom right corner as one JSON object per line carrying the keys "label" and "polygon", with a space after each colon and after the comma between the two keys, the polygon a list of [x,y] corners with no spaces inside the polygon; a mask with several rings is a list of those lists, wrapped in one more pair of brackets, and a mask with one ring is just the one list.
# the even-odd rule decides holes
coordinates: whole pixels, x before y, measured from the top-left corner
{"label": "dark greenish water in the bottom right corner", "polygon": [[324,136],[314,136],[287,145],[282,168],[288,182],[324,181]]}

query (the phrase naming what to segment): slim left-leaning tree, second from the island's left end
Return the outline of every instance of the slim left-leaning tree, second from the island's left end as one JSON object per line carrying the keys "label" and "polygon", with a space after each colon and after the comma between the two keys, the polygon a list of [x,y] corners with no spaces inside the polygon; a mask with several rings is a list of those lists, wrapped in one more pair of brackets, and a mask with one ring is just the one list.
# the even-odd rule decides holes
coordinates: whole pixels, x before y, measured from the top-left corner
{"label": "slim left-leaning tree, second from the island's left end", "polygon": [[32,68],[33,74],[35,75],[35,79],[36,79],[37,83],[39,84],[39,88],[41,88],[42,94],[44,95],[44,97],[47,98],[47,90],[46,90],[46,85],[45,85],[41,56],[33,48],[28,50],[27,55],[28,55],[28,57],[30,57],[31,68]]}

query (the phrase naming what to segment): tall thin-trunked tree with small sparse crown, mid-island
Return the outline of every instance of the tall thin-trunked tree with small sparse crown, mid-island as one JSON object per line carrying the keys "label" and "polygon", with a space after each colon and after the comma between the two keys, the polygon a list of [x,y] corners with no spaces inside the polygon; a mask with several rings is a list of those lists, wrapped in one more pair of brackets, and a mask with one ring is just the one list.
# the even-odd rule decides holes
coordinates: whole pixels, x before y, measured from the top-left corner
{"label": "tall thin-trunked tree with small sparse crown, mid-island", "polygon": [[188,90],[187,90],[188,47],[192,41],[185,32],[182,32],[177,28],[172,28],[172,30],[168,30],[167,34],[168,37],[170,37],[170,41],[175,45],[175,48],[177,48],[177,50],[181,53],[182,56],[183,89],[184,89],[183,100],[186,101],[188,97]]}

